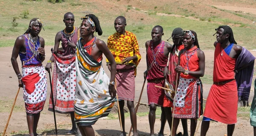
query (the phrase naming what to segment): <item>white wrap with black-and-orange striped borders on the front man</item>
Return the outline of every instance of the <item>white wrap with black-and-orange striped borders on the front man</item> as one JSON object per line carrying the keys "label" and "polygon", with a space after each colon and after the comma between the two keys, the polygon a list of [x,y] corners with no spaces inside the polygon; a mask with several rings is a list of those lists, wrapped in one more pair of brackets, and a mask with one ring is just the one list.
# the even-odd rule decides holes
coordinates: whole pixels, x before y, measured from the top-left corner
{"label": "white wrap with black-and-orange striped borders on the front man", "polygon": [[96,61],[89,54],[96,46],[96,38],[87,42],[85,49],[81,39],[76,47],[75,121],[79,126],[89,126],[108,116],[115,98],[108,92],[110,81],[102,67],[102,56]]}

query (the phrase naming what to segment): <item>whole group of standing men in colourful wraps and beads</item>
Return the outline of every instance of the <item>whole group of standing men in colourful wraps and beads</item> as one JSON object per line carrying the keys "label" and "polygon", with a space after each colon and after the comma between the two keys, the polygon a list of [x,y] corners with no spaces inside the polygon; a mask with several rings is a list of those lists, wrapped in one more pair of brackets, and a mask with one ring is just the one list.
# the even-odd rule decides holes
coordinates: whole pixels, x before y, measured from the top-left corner
{"label": "whole group of standing men in colourful wraps and beads", "polygon": [[[122,122],[120,136],[126,136],[123,108],[124,100],[127,100],[133,136],[138,136],[134,109],[135,77],[142,57],[137,37],[125,30],[126,19],[119,16],[114,21],[116,33],[109,36],[105,44],[94,36],[95,31],[99,36],[102,35],[99,19],[93,14],[81,19],[80,28],[76,28],[74,15],[66,13],[63,19],[66,28],[55,36],[52,56],[45,67],[50,72],[54,63],[53,96],[50,96],[53,101],[49,101],[49,111],[53,111],[54,103],[56,112],[70,114],[72,129],[66,135],[95,136],[92,125],[100,117],[108,116],[115,101],[118,101],[119,119]],[[38,36],[42,27],[43,22],[40,19],[34,18],[30,21],[26,33],[16,39],[11,59],[19,87],[23,87],[29,136],[38,136],[37,124],[47,94],[46,72],[42,66],[45,60],[44,39]],[[206,136],[210,120],[228,124],[227,136],[232,136],[237,104],[248,104],[255,58],[236,44],[229,26],[219,26],[215,30],[217,41],[214,43],[214,83],[207,98],[201,136]],[[172,32],[173,45],[163,41],[163,35],[163,28],[157,25],[151,31],[152,39],[145,43],[147,67],[144,78],[148,82],[150,136],[155,135],[157,106],[162,108],[158,136],[163,136],[166,120],[169,128],[173,130],[171,136],[189,136],[186,119],[191,119],[190,136],[194,136],[197,119],[203,114],[203,87],[200,77],[204,76],[204,52],[199,48],[195,31],[175,28]],[[102,67],[103,54],[107,58],[110,78]],[[18,55],[22,62],[22,74],[17,64]],[[243,72],[247,76],[241,78]],[[171,91],[156,86],[167,87]],[[180,119],[183,134],[177,135]]]}

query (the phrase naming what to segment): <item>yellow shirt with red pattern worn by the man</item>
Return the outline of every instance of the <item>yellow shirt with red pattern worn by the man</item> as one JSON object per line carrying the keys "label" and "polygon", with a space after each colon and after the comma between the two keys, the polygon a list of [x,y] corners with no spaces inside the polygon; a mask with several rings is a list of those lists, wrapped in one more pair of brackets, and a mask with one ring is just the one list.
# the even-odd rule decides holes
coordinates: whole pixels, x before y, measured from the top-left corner
{"label": "yellow shirt with red pattern worn by the man", "polygon": [[[122,64],[122,60],[126,57],[137,56],[136,61],[130,61],[126,65],[137,67],[140,63],[141,55],[139,50],[139,44],[134,33],[125,31],[126,35],[120,33],[114,33],[108,37],[108,49],[113,54],[116,64]],[[106,59],[109,64],[108,59]],[[136,76],[136,70],[135,70]]]}

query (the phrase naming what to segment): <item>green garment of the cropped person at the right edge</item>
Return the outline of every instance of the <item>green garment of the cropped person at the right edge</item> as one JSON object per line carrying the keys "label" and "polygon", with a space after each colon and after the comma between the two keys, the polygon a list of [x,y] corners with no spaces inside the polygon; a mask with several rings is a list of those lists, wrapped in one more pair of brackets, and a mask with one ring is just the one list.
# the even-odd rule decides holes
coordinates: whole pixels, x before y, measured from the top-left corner
{"label": "green garment of the cropped person at the right edge", "polygon": [[250,108],[250,124],[256,127],[256,79],[254,80],[254,97]]}

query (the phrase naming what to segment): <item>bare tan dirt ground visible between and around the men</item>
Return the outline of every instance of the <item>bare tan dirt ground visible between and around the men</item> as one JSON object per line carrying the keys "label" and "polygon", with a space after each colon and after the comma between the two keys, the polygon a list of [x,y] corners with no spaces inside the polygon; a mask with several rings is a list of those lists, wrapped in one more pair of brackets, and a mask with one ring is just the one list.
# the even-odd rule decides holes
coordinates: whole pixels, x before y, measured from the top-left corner
{"label": "bare tan dirt ground visible between and around the men", "polygon": [[[49,60],[50,57],[50,48],[49,46],[46,47],[46,60]],[[137,77],[136,77],[136,96],[135,96],[135,100],[138,100],[138,97],[140,95],[140,91],[142,89],[142,85],[143,85],[143,72],[146,69],[146,62],[145,62],[145,48],[141,48],[140,49],[140,53],[142,55],[142,60],[140,61],[140,64],[138,66],[137,69]],[[211,74],[212,73],[212,67],[213,67],[213,50],[204,50],[204,53],[206,54],[206,74]],[[253,53],[254,56],[256,56],[256,52],[251,50],[251,53]],[[15,95],[17,93],[17,77],[15,75],[15,72],[12,68],[12,64],[10,61],[11,58],[11,54],[12,54],[12,47],[2,47],[0,48],[0,58],[1,58],[1,65],[0,65],[0,86],[1,86],[1,90],[0,90],[0,100],[14,100]],[[18,63],[19,66],[21,66],[20,61],[19,61],[19,57],[18,57]],[[47,61],[44,61],[44,66],[46,65]],[[103,62],[103,67],[105,69],[107,69],[105,67],[105,61]],[[108,70],[106,70],[107,74],[109,74]],[[50,94],[50,87],[49,87],[49,76],[47,76],[47,104],[49,103],[49,94]],[[210,84],[204,84],[204,98],[207,98],[207,95],[209,93],[209,89],[210,89]],[[250,94],[250,102],[251,99],[253,97],[253,92],[251,92]],[[17,102],[16,105],[22,105],[23,102],[23,93],[22,93],[22,89],[20,90],[20,93],[18,94],[18,98],[17,98]],[[147,94],[146,94],[146,86],[143,89],[143,96],[142,96],[142,100],[141,103],[147,103]],[[45,105],[44,110],[42,111],[41,114],[41,118],[39,120],[39,124],[38,124],[38,129],[54,129],[54,122],[53,122],[53,114],[52,112],[47,111],[48,109],[48,105]],[[6,105],[7,106],[7,105]],[[12,106],[12,105],[8,105],[8,106]],[[141,105],[139,107],[139,111],[148,111],[149,109],[147,109],[145,106]],[[6,125],[7,119],[9,116],[9,112],[2,112],[0,114],[0,132],[3,132],[3,129]],[[67,128],[65,129],[60,129],[58,130],[58,135],[64,135],[65,132],[67,132],[68,130],[71,129],[71,125],[70,127],[68,127],[67,124],[70,124],[70,117],[64,114],[57,114],[56,115],[57,118],[57,123],[58,126],[61,125],[66,125]],[[125,130],[126,132],[128,132],[131,122],[129,117],[125,119]],[[188,124],[190,121],[188,121]],[[198,121],[199,122],[199,121]],[[181,124],[181,123],[180,123]],[[138,128],[138,132],[140,134],[140,136],[148,136],[149,135],[149,124],[148,124],[148,117],[138,117],[137,118],[137,128]],[[169,127],[167,127],[168,124],[166,124],[166,128],[164,133],[169,136],[170,133],[170,129]],[[98,122],[96,122],[95,125],[93,125],[93,128],[96,131],[97,136],[118,136],[120,134],[120,126],[119,126],[119,121],[117,119],[99,119]],[[189,127],[190,129],[190,127]],[[27,128],[27,123],[26,123],[26,113],[25,111],[19,111],[19,112],[13,112],[12,113],[12,118],[9,122],[9,127],[7,129],[7,135],[9,135],[9,133],[11,132],[18,132],[21,130],[28,130]],[[160,119],[156,119],[155,122],[155,133],[159,132],[160,130]],[[180,125],[180,127],[178,128],[179,132],[182,132],[182,127]],[[200,128],[198,129],[198,133],[197,136],[199,136],[200,133]],[[216,123],[216,122],[212,122],[210,124],[210,128],[208,131],[208,135],[207,136],[224,136],[224,134],[226,134],[226,125],[222,124],[222,123]],[[19,134],[17,134],[19,135]],[[54,134],[54,130],[47,130],[44,131],[43,133],[41,133],[41,135],[47,135],[47,136],[51,136],[51,135],[55,135]],[[234,136],[252,136],[253,135],[253,128],[250,126],[250,121],[249,118],[248,119],[240,119],[238,118],[238,122],[236,123],[236,129],[234,132]]]}

